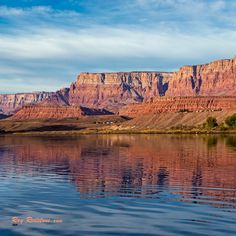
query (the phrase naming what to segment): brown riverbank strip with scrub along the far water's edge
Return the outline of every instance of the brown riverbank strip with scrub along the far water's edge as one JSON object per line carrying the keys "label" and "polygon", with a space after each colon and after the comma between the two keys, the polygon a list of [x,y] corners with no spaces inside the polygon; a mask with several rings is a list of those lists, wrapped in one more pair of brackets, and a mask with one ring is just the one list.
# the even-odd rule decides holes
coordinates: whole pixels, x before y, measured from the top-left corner
{"label": "brown riverbank strip with scrub along the far water's edge", "polygon": [[[172,122],[169,120],[171,116]],[[11,120],[0,121],[1,135],[87,135],[87,134],[235,134],[236,129],[229,128],[223,123],[210,128],[202,124],[185,122],[173,122],[174,114],[160,114],[158,120],[164,122],[154,122],[149,117],[142,117],[142,120],[130,119],[127,117],[109,116],[88,116],[79,119],[35,119],[35,120]],[[178,114],[177,114],[178,115]],[[164,117],[163,117],[164,116]],[[186,118],[187,115],[178,115]],[[219,116],[218,116],[219,117]],[[164,119],[165,118],[165,119]],[[192,117],[191,117],[192,118]],[[141,122],[142,121],[142,122]],[[223,119],[222,119],[223,121]],[[147,125],[145,125],[145,122]],[[173,126],[175,124],[175,126]],[[184,124],[184,125],[183,125]]]}

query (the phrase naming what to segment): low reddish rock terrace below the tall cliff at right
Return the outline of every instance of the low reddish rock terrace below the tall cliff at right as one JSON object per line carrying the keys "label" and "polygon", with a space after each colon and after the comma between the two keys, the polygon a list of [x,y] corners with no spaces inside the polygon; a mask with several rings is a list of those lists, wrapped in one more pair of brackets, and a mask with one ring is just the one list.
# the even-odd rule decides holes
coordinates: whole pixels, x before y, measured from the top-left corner
{"label": "low reddish rock terrace below the tall cliff at right", "polygon": [[203,112],[236,110],[236,97],[172,97],[156,98],[152,102],[130,104],[120,109],[120,115],[137,117],[165,112]]}

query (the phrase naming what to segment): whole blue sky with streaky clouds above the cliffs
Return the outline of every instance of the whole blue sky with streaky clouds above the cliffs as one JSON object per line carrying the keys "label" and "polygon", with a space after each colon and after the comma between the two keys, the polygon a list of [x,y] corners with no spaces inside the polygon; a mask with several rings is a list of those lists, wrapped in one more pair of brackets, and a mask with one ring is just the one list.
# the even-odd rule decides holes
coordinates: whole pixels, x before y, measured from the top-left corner
{"label": "whole blue sky with streaky clouds above the cliffs", "polygon": [[235,0],[0,0],[0,93],[235,55]]}

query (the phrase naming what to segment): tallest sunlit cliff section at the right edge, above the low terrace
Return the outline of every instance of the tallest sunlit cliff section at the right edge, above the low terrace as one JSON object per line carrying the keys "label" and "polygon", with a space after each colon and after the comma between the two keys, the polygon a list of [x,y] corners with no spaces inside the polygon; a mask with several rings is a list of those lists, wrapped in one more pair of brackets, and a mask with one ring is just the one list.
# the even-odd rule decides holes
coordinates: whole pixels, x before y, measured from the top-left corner
{"label": "tallest sunlit cliff section at the right edge, above the low terrace", "polygon": [[184,66],[169,80],[167,96],[235,96],[236,57],[205,65]]}

